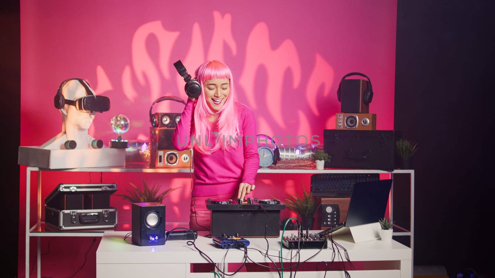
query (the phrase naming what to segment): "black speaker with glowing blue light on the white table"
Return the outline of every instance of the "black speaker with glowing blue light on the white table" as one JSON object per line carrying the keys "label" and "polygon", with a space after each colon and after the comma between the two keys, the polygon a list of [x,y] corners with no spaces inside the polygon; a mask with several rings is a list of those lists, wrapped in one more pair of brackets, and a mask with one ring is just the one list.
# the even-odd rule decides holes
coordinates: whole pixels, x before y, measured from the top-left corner
{"label": "black speaker with glowing blue light on the white table", "polygon": [[165,244],[165,205],[132,203],[132,242],[139,246]]}

